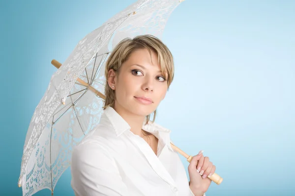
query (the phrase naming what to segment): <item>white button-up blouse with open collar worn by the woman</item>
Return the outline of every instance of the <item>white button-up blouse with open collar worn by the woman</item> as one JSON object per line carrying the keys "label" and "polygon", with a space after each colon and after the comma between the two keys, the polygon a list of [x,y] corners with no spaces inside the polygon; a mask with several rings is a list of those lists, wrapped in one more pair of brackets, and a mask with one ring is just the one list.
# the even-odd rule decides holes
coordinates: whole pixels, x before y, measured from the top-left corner
{"label": "white button-up blouse with open collar worn by the woman", "polygon": [[171,131],[151,122],[142,128],[158,138],[157,155],[112,107],[103,111],[98,126],[72,152],[76,196],[194,196],[170,145]]}

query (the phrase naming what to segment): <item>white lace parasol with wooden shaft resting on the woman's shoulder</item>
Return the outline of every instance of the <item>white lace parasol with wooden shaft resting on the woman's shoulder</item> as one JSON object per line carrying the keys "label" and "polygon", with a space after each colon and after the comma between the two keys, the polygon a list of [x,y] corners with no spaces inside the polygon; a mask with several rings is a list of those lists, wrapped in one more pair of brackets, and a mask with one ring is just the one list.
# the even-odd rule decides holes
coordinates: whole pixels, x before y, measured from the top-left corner
{"label": "white lace parasol with wooden shaft resting on the woman's shoulder", "polygon": [[[112,49],[126,37],[161,37],[183,0],[139,0],[85,36],[51,77],[29,124],[18,185],[23,196],[52,191],[70,166],[73,147],[97,126],[105,96],[104,67]],[[190,161],[191,156],[173,146]],[[215,179],[216,178],[216,179]],[[210,179],[220,183],[214,173]]]}

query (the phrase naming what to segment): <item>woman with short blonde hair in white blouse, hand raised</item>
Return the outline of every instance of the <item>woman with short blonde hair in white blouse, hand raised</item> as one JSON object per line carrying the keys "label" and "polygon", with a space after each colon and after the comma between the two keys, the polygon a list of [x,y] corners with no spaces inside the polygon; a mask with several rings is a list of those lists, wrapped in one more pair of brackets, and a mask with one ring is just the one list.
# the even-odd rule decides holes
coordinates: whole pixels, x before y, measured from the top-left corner
{"label": "woman with short blonde hair in white blouse, hand raised", "polygon": [[153,123],[174,77],[170,50],[151,35],[126,38],[108,58],[105,77],[100,123],[73,149],[75,195],[205,195],[215,166],[200,151],[188,166],[189,183],[170,130]]}

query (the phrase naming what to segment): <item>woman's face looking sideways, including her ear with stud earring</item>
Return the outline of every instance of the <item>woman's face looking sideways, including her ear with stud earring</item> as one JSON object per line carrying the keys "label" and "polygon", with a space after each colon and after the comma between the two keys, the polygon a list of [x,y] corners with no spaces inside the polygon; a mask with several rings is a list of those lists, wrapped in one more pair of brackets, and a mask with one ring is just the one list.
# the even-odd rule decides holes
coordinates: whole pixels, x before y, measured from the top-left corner
{"label": "woman's face looking sideways, including her ear with stud earring", "polygon": [[115,86],[115,109],[147,116],[164,99],[168,88],[167,75],[161,73],[156,53],[152,51],[151,55],[152,59],[147,49],[138,49],[122,64],[118,75],[109,71],[109,76],[115,76],[113,84],[109,82],[111,87]]}

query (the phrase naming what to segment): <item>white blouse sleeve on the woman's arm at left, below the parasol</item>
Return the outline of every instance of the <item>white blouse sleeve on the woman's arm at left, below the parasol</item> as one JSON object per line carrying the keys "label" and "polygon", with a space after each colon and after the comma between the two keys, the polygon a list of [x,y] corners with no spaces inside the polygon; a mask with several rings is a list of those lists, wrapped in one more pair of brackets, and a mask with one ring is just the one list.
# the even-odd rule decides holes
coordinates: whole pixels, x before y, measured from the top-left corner
{"label": "white blouse sleeve on the woman's arm at left, below the parasol", "polygon": [[114,159],[97,143],[87,142],[74,148],[71,174],[76,196],[129,196]]}

